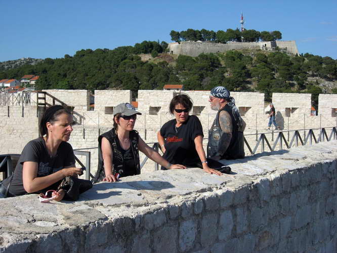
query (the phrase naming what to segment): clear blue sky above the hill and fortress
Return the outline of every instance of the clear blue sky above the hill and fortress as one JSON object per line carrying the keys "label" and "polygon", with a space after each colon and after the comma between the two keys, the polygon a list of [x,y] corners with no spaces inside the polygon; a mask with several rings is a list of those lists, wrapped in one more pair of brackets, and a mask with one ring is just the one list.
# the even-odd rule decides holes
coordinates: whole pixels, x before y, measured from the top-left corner
{"label": "clear blue sky above the hill and fortress", "polygon": [[0,0],[0,61],[61,58],[81,49],[172,42],[170,31],[279,30],[300,53],[337,59],[337,1]]}

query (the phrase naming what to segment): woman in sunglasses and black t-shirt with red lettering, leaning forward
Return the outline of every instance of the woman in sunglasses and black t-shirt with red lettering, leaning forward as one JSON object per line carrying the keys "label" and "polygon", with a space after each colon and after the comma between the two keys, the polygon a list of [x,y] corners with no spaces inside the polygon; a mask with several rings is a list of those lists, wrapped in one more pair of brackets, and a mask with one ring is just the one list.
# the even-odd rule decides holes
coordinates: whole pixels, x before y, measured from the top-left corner
{"label": "woman in sunglasses and black t-shirt with red lettering, leaning forward", "polygon": [[[167,121],[157,134],[163,158],[171,163],[202,167],[209,174],[222,175],[207,164],[202,147],[202,125],[195,115],[189,115],[193,103],[189,96],[180,94],[170,103],[170,112],[176,118]],[[164,168],[161,168],[164,170]]]}

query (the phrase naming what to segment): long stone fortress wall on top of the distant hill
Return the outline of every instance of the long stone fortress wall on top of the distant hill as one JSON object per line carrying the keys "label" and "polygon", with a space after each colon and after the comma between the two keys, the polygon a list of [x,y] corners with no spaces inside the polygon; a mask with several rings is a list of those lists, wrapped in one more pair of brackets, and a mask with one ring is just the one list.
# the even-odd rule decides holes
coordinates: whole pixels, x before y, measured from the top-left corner
{"label": "long stone fortress wall on top of the distant hill", "polygon": [[168,44],[168,51],[177,55],[196,57],[201,53],[224,53],[230,50],[260,49],[272,51],[276,48],[289,54],[300,55],[295,40],[275,40],[259,42],[232,42],[227,44],[209,43],[203,41],[181,41]]}

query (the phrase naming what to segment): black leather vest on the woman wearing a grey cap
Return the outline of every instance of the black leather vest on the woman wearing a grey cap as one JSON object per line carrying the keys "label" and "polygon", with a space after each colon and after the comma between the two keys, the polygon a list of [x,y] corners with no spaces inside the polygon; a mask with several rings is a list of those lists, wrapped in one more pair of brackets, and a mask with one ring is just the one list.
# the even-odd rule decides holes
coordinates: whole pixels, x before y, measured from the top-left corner
{"label": "black leather vest on the woman wearing a grey cap", "polygon": [[[105,178],[105,171],[104,171],[104,161],[102,155],[102,138],[105,137],[112,149],[113,159],[112,159],[112,167],[113,167],[113,174],[116,173],[116,168],[120,168],[123,166],[123,156],[121,155],[120,146],[118,143],[118,137],[115,133],[114,129],[100,135],[98,137],[98,168],[95,175],[94,183],[101,182]],[[131,141],[131,150],[133,152],[136,164],[136,174],[140,174],[140,161],[139,161],[139,150],[138,150],[138,141],[139,141],[139,134],[136,130],[130,132],[130,141]]]}

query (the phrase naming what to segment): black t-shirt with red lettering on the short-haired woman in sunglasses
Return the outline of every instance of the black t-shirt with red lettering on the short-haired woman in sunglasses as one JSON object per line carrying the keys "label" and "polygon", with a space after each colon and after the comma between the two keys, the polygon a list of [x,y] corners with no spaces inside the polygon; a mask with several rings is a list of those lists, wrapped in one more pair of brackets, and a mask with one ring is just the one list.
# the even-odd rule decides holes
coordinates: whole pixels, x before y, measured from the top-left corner
{"label": "black t-shirt with red lettering on the short-haired woman in sunglasses", "polygon": [[173,164],[195,166],[200,159],[195,150],[194,139],[198,135],[203,136],[200,120],[197,116],[190,115],[179,128],[176,128],[176,123],[177,120],[172,119],[160,129],[166,149],[162,157]]}

